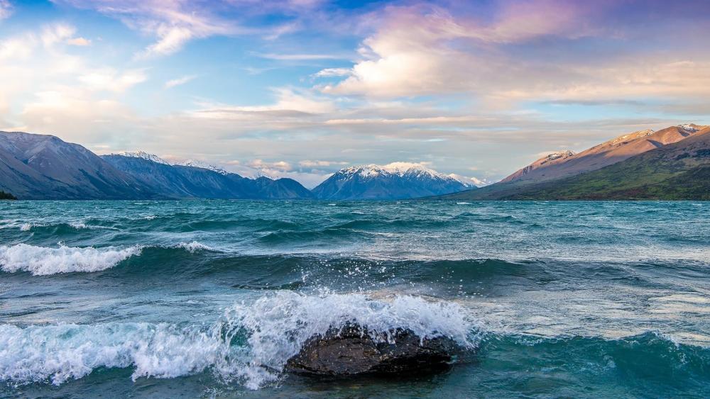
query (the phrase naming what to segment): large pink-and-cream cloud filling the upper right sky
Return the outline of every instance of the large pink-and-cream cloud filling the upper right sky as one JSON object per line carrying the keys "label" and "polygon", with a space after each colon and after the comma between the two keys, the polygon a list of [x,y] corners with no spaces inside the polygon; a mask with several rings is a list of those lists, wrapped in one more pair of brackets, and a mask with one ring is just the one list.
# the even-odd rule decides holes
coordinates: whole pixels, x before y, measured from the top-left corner
{"label": "large pink-and-cream cloud filling the upper right sky", "polygon": [[[679,49],[659,56],[649,50],[649,43],[668,40],[655,30],[690,18],[673,16],[670,6],[667,21],[620,26],[608,10],[621,7],[613,2],[491,4],[491,18],[485,20],[470,15],[481,10],[466,13],[464,6],[391,6],[362,41],[359,60],[347,72],[337,69],[344,79],[316,88],[369,99],[468,94],[489,108],[530,100],[611,102],[710,94],[705,52]],[[648,21],[643,17],[640,21]],[[686,35],[674,40],[692,43],[697,34],[674,35]],[[585,46],[599,54],[589,57]],[[324,77],[335,74],[322,70]]]}

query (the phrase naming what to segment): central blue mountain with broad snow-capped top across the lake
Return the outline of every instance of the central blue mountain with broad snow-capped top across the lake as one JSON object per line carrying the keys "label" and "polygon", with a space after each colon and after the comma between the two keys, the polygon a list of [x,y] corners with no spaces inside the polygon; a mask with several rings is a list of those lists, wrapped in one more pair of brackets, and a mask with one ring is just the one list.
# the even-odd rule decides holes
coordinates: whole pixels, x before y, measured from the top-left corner
{"label": "central blue mountain with broad snow-capped top across the lake", "polygon": [[373,200],[436,196],[472,188],[422,164],[393,162],[341,169],[313,189],[313,193],[320,199]]}

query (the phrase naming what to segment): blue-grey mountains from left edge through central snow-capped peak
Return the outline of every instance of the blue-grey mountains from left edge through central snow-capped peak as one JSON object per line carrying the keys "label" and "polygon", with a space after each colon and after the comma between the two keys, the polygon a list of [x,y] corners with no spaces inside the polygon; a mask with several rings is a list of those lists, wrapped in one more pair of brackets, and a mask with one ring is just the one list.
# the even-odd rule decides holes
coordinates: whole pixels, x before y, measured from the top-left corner
{"label": "blue-grey mountains from left edge through central snow-capped peak", "polygon": [[293,179],[246,178],[199,160],[171,163],[142,151],[98,156],[53,135],[0,132],[0,191],[21,199],[368,200],[475,187],[459,179],[397,162],[342,169],[310,191]]}

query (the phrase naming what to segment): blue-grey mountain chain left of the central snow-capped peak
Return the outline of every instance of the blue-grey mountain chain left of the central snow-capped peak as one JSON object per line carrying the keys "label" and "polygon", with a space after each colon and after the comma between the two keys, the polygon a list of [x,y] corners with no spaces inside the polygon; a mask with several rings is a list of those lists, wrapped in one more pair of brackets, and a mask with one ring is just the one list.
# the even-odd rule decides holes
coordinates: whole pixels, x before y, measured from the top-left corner
{"label": "blue-grey mountain chain left of the central snow-capped peak", "polygon": [[245,179],[138,157],[99,157],[52,135],[0,132],[0,191],[21,199],[312,198],[292,179]]}

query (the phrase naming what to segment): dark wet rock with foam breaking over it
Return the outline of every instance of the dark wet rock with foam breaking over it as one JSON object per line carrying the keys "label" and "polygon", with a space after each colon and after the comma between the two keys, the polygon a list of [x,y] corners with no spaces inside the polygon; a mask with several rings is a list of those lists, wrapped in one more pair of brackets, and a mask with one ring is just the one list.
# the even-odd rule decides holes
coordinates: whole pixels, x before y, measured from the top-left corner
{"label": "dark wet rock with foam breaking over it", "polygon": [[449,338],[422,339],[410,330],[373,335],[359,325],[331,329],[310,338],[286,368],[320,376],[427,373],[448,369],[457,344]]}

